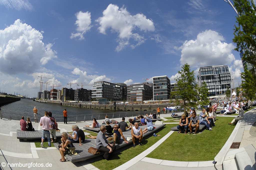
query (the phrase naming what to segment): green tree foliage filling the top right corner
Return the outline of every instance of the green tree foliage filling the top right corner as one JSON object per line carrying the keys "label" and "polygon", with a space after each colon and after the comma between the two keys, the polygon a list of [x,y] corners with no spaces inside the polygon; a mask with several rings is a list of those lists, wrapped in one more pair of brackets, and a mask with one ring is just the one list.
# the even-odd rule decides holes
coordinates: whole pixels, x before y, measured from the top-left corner
{"label": "green tree foliage filling the top right corner", "polygon": [[234,28],[233,42],[237,44],[234,49],[242,52],[244,50],[244,60],[256,67],[256,13],[253,0],[233,0],[234,7],[237,9],[237,17]]}

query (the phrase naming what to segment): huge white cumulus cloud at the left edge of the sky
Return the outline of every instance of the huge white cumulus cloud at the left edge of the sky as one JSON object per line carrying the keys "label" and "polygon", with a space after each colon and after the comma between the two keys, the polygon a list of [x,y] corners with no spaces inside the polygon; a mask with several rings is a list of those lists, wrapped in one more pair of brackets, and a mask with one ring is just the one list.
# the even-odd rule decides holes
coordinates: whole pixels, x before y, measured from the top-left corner
{"label": "huge white cumulus cloud at the left edge of the sky", "polygon": [[45,65],[57,52],[52,44],[44,44],[43,31],[38,31],[17,19],[0,30],[0,71],[7,74],[31,73]]}

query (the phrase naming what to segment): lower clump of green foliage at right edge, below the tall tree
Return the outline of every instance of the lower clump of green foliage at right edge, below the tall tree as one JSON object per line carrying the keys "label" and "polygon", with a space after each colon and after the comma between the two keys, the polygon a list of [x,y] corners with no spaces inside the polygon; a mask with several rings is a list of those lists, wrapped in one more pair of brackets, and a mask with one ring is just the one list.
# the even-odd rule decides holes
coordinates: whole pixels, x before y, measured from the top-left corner
{"label": "lower clump of green foliage at right edge, below the tall tree", "polygon": [[256,76],[251,73],[251,71],[245,70],[241,73],[242,83],[241,87],[243,89],[243,96],[247,99],[256,99]]}

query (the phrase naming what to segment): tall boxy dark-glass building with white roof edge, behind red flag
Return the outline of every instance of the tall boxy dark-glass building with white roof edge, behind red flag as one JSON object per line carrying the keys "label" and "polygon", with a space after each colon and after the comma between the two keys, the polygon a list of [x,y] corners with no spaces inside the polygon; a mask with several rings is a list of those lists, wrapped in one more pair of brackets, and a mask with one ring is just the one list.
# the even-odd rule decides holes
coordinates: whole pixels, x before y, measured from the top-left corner
{"label": "tall boxy dark-glass building with white roof edge, behind red flag", "polygon": [[170,79],[166,75],[153,77],[154,100],[170,99],[170,91]]}

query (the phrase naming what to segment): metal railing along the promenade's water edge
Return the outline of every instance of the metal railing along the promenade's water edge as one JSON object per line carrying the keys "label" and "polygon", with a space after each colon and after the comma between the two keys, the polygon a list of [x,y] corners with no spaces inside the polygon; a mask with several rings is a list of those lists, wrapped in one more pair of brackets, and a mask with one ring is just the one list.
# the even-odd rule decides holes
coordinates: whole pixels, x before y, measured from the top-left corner
{"label": "metal railing along the promenade's water edge", "polygon": [[[182,110],[178,110],[176,112],[180,112]],[[114,118],[122,118],[122,117],[136,117],[139,114],[140,115],[146,115],[150,113],[154,113],[154,111],[134,111],[134,112],[116,112],[116,113],[98,113],[98,114],[80,114],[80,115],[68,115],[67,121],[68,122],[85,122],[85,121],[92,121],[93,118],[96,120],[102,120],[105,119],[105,116],[107,115],[110,119]],[[167,113],[167,111],[166,111]],[[173,111],[170,111],[169,113],[173,113]],[[160,111],[160,114],[163,114],[163,111]],[[0,111],[0,118],[9,119],[9,120],[20,120],[21,117],[24,116],[24,119],[26,120],[27,117],[30,118],[31,121],[35,121],[34,119],[34,113],[28,113],[28,112],[18,112],[13,110],[6,110],[1,109]],[[40,118],[44,116],[44,114],[37,114],[38,121]],[[62,115],[52,115],[56,119],[57,122],[63,122],[63,116]]]}

